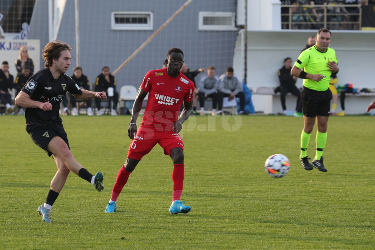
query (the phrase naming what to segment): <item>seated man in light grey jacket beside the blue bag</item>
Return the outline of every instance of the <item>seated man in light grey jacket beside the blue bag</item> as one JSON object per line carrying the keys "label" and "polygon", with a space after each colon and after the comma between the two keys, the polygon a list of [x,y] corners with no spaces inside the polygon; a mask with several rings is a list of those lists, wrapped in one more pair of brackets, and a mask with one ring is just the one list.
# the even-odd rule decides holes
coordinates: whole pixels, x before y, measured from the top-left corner
{"label": "seated man in light grey jacket beside the blue bag", "polygon": [[219,92],[217,99],[219,102],[219,114],[223,114],[223,98],[228,97],[228,100],[233,100],[234,97],[240,98],[240,114],[245,114],[245,94],[242,91],[242,82],[234,76],[232,67],[226,68],[225,76],[219,81]]}

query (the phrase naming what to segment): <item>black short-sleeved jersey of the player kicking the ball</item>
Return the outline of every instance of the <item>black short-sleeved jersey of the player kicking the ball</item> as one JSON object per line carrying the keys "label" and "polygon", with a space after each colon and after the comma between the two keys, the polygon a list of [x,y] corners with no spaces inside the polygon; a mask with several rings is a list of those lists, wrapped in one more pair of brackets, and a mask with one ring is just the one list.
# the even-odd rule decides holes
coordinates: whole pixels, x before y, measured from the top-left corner
{"label": "black short-sleeved jersey of the player kicking the ball", "polygon": [[81,94],[82,90],[66,74],[61,74],[58,79],[54,79],[49,69],[42,69],[28,79],[22,88],[31,100],[39,102],[49,102],[52,110],[43,111],[40,108],[26,108],[26,125],[60,125],[62,119],[58,111],[60,102],[66,91],[71,94]]}

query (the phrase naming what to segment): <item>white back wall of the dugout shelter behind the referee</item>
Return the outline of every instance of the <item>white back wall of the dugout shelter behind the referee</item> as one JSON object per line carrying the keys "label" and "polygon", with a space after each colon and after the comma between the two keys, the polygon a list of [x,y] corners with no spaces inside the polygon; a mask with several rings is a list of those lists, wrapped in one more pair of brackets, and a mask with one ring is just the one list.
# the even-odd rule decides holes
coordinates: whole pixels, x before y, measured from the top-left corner
{"label": "white back wall of the dugout shelter behind the referee", "polygon": [[[243,32],[243,30],[240,31],[237,37],[233,58],[235,74],[240,76],[244,75]],[[248,31],[248,87],[256,91],[258,87],[279,86],[277,72],[283,66],[284,59],[291,57],[294,63],[301,50],[305,48],[308,37],[315,36],[315,34],[316,30]],[[338,56],[339,84],[344,85],[350,82],[355,88],[375,88],[375,80],[372,77],[375,65],[374,45],[375,33],[373,31],[332,31],[330,47],[335,49]],[[302,79],[298,79],[296,85],[302,87]],[[371,98],[369,97],[366,102]],[[257,109],[257,103],[254,105]],[[275,107],[279,106],[279,103],[276,103]],[[293,108],[294,106],[295,104]],[[272,110],[273,113],[278,112],[279,110],[275,107],[267,110]],[[356,110],[354,109],[353,112],[356,113]]]}

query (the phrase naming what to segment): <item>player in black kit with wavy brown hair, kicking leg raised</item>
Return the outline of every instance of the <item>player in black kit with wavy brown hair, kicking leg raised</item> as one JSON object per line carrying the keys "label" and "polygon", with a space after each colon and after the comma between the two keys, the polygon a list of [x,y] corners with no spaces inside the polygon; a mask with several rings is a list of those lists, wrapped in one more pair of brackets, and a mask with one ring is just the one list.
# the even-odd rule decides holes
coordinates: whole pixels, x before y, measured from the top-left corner
{"label": "player in black kit with wavy brown hair, kicking leg raised", "polygon": [[31,76],[15,99],[17,105],[26,108],[27,133],[48,156],[53,156],[57,165],[46,202],[37,209],[45,222],[51,222],[52,205],[70,171],[93,184],[96,190],[104,189],[103,174],[98,172],[93,176],[74,159],[62,119],[58,114],[60,102],[67,91],[79,99],[107,98],[105,92],[81,90],[72,78],[65,74],[71,65],[70,50],[70,46],[63,42],[47,43],[43,50],[45,69]]}

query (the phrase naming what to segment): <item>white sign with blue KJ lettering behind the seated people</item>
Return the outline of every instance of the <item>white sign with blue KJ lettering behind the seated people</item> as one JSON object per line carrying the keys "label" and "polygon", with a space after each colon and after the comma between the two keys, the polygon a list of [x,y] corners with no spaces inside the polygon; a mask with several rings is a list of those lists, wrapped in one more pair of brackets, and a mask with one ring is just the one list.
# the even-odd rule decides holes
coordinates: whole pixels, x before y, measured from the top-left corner
{"label": "white sign with blue KJ lettering behind the seated people", "polygon": [[21,46],[27,46],[28,56],[34,62],[34,73],[40,70],[40,40],[0,39],[0,61],[8,61],[9,72],[14,78],[17,76],[15,62],[20,55]]}

